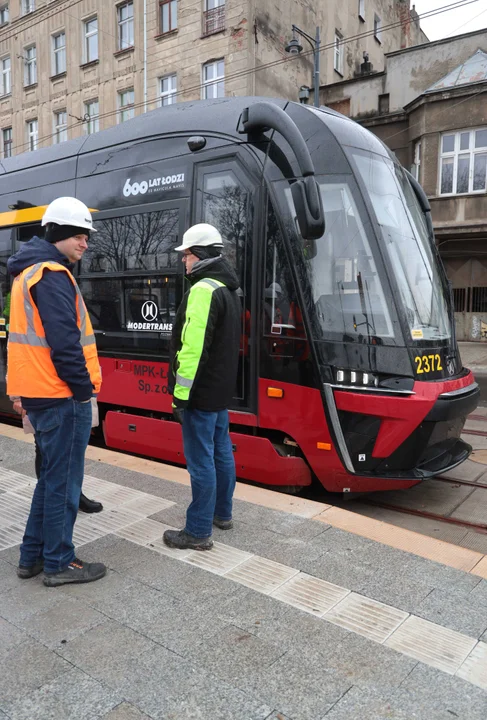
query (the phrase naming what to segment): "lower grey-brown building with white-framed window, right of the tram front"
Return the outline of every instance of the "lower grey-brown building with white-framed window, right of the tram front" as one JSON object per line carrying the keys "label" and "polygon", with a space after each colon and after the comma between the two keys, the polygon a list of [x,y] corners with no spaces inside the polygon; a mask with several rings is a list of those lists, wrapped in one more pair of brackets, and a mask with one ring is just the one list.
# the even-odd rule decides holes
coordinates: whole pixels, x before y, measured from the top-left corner
{"label": "lower grey-brown building with white-framed window, right of the tram front", "polygon": [[487,341],[487,30],[386,56],[320,100],[378,135],[423,185],[461,340]]}

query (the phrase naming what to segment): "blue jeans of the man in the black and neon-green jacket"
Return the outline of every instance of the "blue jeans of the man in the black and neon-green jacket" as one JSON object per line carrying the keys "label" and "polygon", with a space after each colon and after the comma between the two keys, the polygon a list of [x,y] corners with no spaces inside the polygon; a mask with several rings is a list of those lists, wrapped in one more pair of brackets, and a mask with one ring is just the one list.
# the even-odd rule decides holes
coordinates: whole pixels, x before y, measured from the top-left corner
{"label": "blue jeans of the man in the black and neon-green jacket", "polygon": [[232,517],[236,478],[228,410],[185,410],[183,418],[184,454],[193,494],[185,530],[193,537],[208,538],[215,515],[220,520]]}

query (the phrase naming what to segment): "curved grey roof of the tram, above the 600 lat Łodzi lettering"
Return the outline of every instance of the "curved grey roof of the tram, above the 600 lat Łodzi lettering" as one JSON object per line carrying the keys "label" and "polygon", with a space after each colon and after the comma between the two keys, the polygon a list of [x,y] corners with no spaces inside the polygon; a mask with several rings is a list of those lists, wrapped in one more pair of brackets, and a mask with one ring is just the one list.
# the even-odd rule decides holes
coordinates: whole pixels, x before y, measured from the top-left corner
{"label": "curved grey roof of the tram, above the 600 lat \u0141odzi lettering", "polygon": [[[175,103],[162,108],[151,110],[114,127],[101,130],[92,135],[68,140],[57,145],[40,148],[34,152],[24,152],[0,162],[0,176],[5,173],[18,172],[32,167],[49,165],[60,160],[75,158],[87,153],[97,152],[119,145],[127,145],[135,141],[150,140],[165,134],[194,135],[215,133],[233,136],[242,140],[243,136],[237,131],[237,121],[241,112],[257,102],[269,102],[285,110],[289,105],[312,110],[328,125],[334,129],[340,127],[338,139],[344,144],[355,145],[373,149],[380,154],[387,154],[385,146],[369,131],[344,115],[326,107],[311,108],[282,98],[268,97],[232,97],[216,100],[196,100],[185,103]],[[218,126],[215,124],[215,109],[218,108]],[[332,120],[333,118],[333,120]],[[343,121],[337,123],[337,119]],[[375,146],[371,148],[372,144]],[[375,141],[375,142],[374,142]],[[47,168],[46,171],[48,172]],[[47,179],[47,178],[46,178]]]}

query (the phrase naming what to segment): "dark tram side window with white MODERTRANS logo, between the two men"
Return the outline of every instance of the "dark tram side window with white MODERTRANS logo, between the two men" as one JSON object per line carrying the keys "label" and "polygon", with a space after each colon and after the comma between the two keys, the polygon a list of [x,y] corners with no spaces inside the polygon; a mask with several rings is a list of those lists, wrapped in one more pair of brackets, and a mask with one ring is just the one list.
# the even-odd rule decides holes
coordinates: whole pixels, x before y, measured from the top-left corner
{"label": "dark tram side window with white MODERTRANS logo, between the two men", "polygon": [[182,296],[179,210],[95,220],[79,286],[102,352],[167,355]]}

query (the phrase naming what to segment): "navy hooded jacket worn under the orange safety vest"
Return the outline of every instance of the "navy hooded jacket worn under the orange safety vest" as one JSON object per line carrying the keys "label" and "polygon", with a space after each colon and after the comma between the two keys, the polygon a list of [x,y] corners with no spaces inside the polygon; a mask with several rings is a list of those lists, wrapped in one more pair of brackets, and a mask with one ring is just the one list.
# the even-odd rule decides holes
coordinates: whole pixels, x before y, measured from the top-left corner
{"label": "navy hooded jacket worn under the orange safety vest", "polygon": [[[11,275],[17,276],[40,262],[56,262],[69,270],[74,267],[55,245],[34,237],[9,258],[7,268]],[[32,288],[32,298],[39,311],[57,374],[67,383],[75,400],[89,400],[93,394],[93,385],[80,343],[73,283],[64,272],[45,270],[42,280]],[[51,407],[60,402],[62,400],[53,398],[22,398],[22,406],[27,411]]]}

